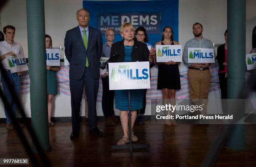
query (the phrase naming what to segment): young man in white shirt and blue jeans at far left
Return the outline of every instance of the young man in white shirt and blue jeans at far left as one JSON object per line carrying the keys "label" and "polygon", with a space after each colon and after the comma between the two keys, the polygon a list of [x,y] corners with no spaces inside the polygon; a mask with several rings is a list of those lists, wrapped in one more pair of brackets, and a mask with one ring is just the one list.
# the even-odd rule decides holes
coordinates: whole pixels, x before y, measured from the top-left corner
{"label": "young man in white shirt and blue jeans at far left", "polygon": [[[15,94],[19,96],[21,72],[10,73],[10,66],[5,57],[8,55],[15,56],[16,54],[24,55],[23,48],[19,43],[14,42],[15,27],[13,27],[12,25],[6,25],[3,28],[3,33],[5,35],[5,40],[0,42],[0,60],[1,60],[1,63],[3,64],[3,67],[5,68],[5,72],[10,80],[11,86],[13,87]],[[13,114],[17,116],[17,106],[12,99],[10,91],[8,90],[7,83],[4,80],[2,75],[1,75],[1,81],[3,83],[3,91],[7,99],[7,102],[10,106],[12,106]],[[5,107],[5,116],[6,116],[7,129],[8,130],[14,129],[10,116],[8,115],[8,112],[6,110],[6,107]]]}

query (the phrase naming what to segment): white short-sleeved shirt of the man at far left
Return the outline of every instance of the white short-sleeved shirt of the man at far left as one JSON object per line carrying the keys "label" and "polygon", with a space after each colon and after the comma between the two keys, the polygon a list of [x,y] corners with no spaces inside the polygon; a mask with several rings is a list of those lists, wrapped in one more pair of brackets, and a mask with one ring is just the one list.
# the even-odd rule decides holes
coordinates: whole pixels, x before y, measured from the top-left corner
{"label": "white short-sleeved shirt of the man at far left", "polygon": [[[20,45],[20,43],[13,42],[12,45],[10,45],[6,40],[0,42],[0,56],[4,55],[5,53],[13,52],[15,54],[21,54],[24,55],[23,48]],[[2,61],[3,68],[10,70],[10,66],[5,59]]]}

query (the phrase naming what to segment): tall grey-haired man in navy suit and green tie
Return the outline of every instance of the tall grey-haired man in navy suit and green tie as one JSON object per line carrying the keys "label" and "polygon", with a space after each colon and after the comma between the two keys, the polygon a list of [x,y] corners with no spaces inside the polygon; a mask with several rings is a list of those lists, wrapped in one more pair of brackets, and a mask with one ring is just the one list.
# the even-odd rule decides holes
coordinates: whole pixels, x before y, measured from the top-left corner
{"label": "tall grey-haired man in navy suit and green tie", "polygon": [[97,128],[96,100],[99,88],[99,60],[102,53],[102,36],[99,30],[88,26],[89,12],[77,11],[79,25],[68,30],[64,40],[65,55],[69,61],[69,86],[71,93],[72,133],[70,139],[79,136],[79,111],[85,87],[88,101],[90,134],[102,136]]}

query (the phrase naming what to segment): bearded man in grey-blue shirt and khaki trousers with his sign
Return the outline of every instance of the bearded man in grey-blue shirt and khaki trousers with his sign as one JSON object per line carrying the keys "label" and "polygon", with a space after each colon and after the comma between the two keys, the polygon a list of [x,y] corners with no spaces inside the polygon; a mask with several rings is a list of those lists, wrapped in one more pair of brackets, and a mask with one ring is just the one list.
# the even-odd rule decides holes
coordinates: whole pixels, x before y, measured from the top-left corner
{"label": "bearded man in grey-blue shirt and khaki trousers with his sign", "polygon": [[[187,41],[183,51],[183,61],[188,65],[188,78],[189,78],[189,94],[191,99],[208,99],[211,84],[211,73],[209,70],[210,63],[214,62],[214,51],[207,54],[208,52],[201,52],[201,48],[213,49],[212,41],[203,38],[203,28],[200,23],[193,25],[193,34],[195,38]],[[197,53],[189,52],[190,48],[198,48]],[[195,50],[194,50],[195,51]],[[195,58],[194,58],[195,56]],[[197,56],[197,57],[196,57]],[[189,63],[189,58],[197,59],[197,63]],[[195,61],[192,61],[195,62]],[[208,63],[207,63],[208,62]],[[207,105],[205,105],[207,106]],[[206,113],[205,113],[206,114]]]}

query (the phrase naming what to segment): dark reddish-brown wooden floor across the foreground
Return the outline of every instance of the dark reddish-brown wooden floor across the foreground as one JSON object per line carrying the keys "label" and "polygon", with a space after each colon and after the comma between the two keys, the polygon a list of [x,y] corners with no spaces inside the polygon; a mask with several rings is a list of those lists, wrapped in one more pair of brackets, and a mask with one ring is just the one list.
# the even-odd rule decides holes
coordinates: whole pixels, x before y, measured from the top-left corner
{"label": "dark reddish-brown wooden floor across the foreground", "polygon": [[[130,159],[127,150],[110,149],[122,136],[121,125],[105,127],[98,123],[105,137],[91,137],[88,125],[82,122],[79,139],[72,142],[70,122],[57,122],[49,128],[52,150],[47,153],[54,167],[198,167],[207,149],[223,125],[193,126],[180,124],[169,127],[161,124],[135,126],[138,144],[149,143],[149,151],[135,150]],[[222,149],[217,167],[256,167],[256,126],[245,126],[246,150]],[[0,158],[28,158],[14,130],[0,124]],[[2,165],[0,165],[2,166]],[[10,165],[8,165],[10,166]],[[17,165],[15,165],[17,167]],[[31,165],[27,165],[31,166]]]}

